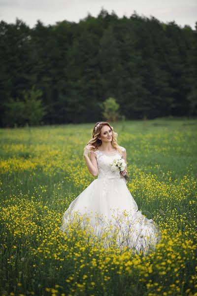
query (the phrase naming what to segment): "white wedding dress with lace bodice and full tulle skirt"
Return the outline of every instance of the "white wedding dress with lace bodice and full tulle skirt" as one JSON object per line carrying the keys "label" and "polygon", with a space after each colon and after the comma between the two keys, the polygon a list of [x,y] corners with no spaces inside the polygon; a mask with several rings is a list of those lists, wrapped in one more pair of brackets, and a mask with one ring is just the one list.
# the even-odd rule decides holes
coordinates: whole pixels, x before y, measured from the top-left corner
{"label": "white wedding dress with lace bodice and full tulle skirt", "polygon": [[[125,148],[119,146],[122,151]],[[118,150],[103,152],[97,149],[98,178],[83,190],[69,205],[63,215],[60,227],[63,232],[68,229],[77,215],[86,214],[94,234],[103,240],[107,229],[112,233],[116,229],[116,244],[119,248],[128,246],[137,253],[148,253],[161,239],[159,226],[138,211],[137,204],[127,187],[127,181],[120,172],[112,172],[110,163],[122,158]],[[85,216],[86,216],[85,215]],[[76,217],[76,216],[75,216]],[[85,225],[86,222],[82,222]],[[112,228],[110,228],[110,226]],[[108,246],[105,243],[104,246]]]}

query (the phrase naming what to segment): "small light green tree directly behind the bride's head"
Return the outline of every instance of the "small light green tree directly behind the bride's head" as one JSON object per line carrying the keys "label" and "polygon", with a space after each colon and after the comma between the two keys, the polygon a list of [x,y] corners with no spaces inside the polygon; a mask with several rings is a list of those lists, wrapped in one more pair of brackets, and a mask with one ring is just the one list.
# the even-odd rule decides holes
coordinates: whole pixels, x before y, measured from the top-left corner
{"label": "small light green tree directly behind the bride's head", "polygon": [[119,107],[120,105],[116,103],[116,100],[112,97],[106,99],[102,103],[102,115],[106,121],[117,121],[119,117]]}

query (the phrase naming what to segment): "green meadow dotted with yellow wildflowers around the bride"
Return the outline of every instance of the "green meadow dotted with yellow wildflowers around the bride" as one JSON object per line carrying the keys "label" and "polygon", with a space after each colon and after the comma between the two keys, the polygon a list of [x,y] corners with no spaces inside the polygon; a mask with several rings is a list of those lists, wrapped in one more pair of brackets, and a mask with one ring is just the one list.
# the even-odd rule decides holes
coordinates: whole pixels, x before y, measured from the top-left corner
{"label": "green meadow dotted with yellow wildflowers around the bride", "polygon": [[94,124],[1,129],[0,295],[197,296],[197,120],[112,125],[127,186],[160,243],[143,256],[93,246],[77,225],[61,232],[68,205],[95,179],[83,158]]}

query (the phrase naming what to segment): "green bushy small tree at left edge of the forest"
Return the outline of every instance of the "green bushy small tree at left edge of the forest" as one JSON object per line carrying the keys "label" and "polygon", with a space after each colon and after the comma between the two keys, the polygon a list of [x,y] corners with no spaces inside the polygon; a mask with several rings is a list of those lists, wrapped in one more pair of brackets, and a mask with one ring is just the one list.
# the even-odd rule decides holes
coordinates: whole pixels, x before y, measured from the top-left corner
{"label": "green bushy small tree at left edge of the forest", "polygon": [[42,92],[32,87],[30,90],[24,90],[22,96],[22,99],[10,99],[6,104],[5,123],[8,126],[38,125],[46,114],[40,99]]}

